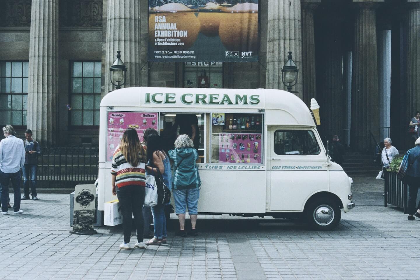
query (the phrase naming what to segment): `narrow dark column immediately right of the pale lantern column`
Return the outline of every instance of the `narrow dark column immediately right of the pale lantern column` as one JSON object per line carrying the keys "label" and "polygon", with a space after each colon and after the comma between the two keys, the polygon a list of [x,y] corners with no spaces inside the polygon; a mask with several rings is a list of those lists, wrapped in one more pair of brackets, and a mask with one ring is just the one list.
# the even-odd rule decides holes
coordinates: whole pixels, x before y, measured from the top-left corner
{"label": "narrow dark column immediately right of the pale lantern column", "polygon": [[314,9],[321,0],[302,0],[302,83],[303,101],[316,98]]}

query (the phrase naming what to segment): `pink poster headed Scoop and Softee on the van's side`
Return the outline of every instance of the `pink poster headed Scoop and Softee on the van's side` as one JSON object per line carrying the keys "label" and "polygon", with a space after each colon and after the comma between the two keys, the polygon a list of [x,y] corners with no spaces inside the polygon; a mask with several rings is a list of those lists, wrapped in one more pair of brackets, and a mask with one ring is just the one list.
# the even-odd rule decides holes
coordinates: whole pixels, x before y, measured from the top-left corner
{"label": "pink poster headed Scoop and Softee on the van's side", "polygon": [[111,161],[115,148],[120,144],[127,128],[134,128],[143,141],[146,128],[157,130],[157,113],[146,112],[108,112],[107,161]]}

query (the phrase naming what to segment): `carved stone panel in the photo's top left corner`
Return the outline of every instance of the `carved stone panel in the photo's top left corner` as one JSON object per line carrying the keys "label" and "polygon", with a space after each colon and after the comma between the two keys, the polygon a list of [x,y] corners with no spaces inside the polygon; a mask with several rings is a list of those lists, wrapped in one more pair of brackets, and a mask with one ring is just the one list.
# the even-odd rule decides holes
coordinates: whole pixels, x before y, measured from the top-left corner
{"label": "carved stone panel in the photo's top left corner", "polygon": [[31,0],[0,1],[0,10],[5,16],[0,17],[0,27],[31,26]]}

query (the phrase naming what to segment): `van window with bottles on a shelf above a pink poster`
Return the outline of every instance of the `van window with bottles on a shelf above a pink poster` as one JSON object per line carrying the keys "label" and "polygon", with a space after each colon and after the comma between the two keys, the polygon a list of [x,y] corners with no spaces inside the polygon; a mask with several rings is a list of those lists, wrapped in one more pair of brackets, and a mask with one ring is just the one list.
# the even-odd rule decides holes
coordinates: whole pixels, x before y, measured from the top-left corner
{"label": "van window with bottles on a shelf above a pink poster", "polygon": [[263,114],[211,114],[211,163],[261,164]]}

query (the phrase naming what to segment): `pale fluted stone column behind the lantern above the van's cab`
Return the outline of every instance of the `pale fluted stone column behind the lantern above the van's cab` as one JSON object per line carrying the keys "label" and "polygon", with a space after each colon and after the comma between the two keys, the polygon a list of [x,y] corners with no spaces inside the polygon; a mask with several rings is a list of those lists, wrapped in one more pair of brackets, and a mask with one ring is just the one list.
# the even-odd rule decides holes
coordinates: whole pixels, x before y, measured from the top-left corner
{"label": "pale fluted stone column behind the lantern above the van's cab", "polygon": [[[302,26],[300,0],[268,0],[267,74],[265,87],[284,89],[281,68],[291,51],[293,60],[302,68]],[[302,98],[302,72],[292,89]]]}

